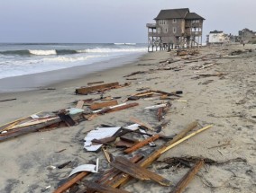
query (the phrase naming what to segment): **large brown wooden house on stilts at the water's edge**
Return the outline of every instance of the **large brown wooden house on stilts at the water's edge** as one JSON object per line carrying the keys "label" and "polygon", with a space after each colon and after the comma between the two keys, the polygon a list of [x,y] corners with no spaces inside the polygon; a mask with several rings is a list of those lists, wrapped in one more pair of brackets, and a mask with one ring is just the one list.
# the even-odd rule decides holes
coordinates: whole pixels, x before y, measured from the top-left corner
{"label": "large brown wooden house on stilts at the water's edge", "polygon": [[205,18],[188,8],[161,10],[156,23],[147,23],[148,50],[202,45]]}

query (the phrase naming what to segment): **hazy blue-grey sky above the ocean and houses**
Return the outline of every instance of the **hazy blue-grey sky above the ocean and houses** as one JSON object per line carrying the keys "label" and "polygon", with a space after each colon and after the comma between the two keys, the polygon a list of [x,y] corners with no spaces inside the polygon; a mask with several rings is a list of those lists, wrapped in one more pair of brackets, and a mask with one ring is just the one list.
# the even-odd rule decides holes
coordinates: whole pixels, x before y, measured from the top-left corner
{"label": "hazy blue-grey sky above the ocean and houses", "polygon": [[161,9],[189,8],[209,31],[256,31],[255,0],[0,0],[0,42],[147,42]]}

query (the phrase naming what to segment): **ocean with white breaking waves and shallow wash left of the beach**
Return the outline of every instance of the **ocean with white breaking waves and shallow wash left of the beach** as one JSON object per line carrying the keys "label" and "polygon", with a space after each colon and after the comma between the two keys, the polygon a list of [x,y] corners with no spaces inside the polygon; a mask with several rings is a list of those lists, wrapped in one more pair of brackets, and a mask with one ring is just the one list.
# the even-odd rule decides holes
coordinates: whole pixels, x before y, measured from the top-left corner
{"label": "ocean with white breaking waves and shallow wash left of the beach", "polygon": [[[78,66],[86,67],[87,72],[83,72],[83,75],[92,73],[92,69],[100,71],[113,66],[121,66],[125,62],[130,62],[127,58],[134,59],[146,52],[147,45],[140,43],[2,43],[0,44],[0,92],[30,90],[32,86],[38,87],[76,78],[75,73],[72,74],[72,69]],[[70,75],[58,74],[59,71],[67,68],[70,69]],[[52,77],[47,77],[47,72],[55,73]],[[20,80],[26,77],[27,79],[33,78],[33,85],[20,85]]]}

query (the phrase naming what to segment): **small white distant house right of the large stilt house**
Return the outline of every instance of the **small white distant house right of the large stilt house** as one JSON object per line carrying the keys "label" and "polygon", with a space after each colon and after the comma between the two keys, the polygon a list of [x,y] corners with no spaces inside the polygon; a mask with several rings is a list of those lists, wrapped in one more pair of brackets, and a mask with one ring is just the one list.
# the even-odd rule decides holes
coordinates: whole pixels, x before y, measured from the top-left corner
{"label": "small white distant house right of the large stilt house", "polygon": [[224,31],[210,31],[207,36],[207,44],[223,44],[230,42],[230,36]]}

